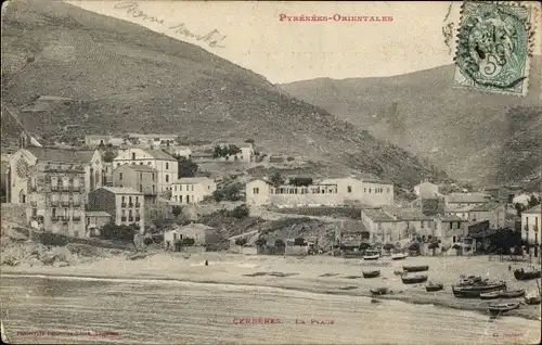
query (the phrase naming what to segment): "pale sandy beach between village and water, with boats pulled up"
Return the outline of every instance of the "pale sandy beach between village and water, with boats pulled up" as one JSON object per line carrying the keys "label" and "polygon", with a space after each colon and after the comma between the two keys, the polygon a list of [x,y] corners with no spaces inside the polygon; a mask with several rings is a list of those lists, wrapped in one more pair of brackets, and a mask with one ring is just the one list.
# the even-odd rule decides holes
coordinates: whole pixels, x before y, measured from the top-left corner
{"label": "pale sandy beach between village and water, with boats pulled up", "polygon": [[[209,266],[205,266],[205,260]],[[442,282],[444,290],[428,293],[424,284],[405,285],[393,271],[402,270],[403,265],[429,265],[427,272],[430,281]],[[234,255],[221,253],[186,254],[156,253],[140,260],[127,260],[124,256],[115,256],[91,264],[72,267],[16,266],[2,267],[2,273],[80,276],[124,279],[168,279],[203,283],[224,283],[241,285],[260,285],[292,289],[326,294],[347,294],[353,296],[371,296],[371,288],[387,286],[393,295],[379,296],[382,299],[398,299],[414,304],[433,304],[436,306],[465,310],[487,311],[487,301],[462,299],[453,296],[451,284],[460,274],[477,274],[489,279],[507,281],[508,289],[527,289],[535,291],[534,281],[515,280],[508,271],[527,264],[500,263],[496,257],[409,257],[393,261],[380,258],[378,261],[363,261],[326,256],[282,257]],[[364,279],[362,269],[380,269],[380,277]],[[279,272],[286,277],[270,276]],[[254,274],[257,273],[257,274]],[[266,273],[266,274],[263,274]],[[254,274],[254,277],[250,277]],[[540,306],[522,305],[507,315],[540,320]]]}

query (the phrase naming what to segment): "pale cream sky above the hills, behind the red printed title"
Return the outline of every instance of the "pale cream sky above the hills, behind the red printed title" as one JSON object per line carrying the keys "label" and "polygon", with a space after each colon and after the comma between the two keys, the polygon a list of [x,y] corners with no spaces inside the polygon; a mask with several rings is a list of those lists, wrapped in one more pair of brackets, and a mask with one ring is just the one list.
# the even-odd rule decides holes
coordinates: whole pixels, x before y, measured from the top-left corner
{"label": "pale cream sky above the hills, behind the red printed title", "polygon": [[[197,44],[273,84],[392,76],[452,64],[461,10],[459,1],[66,2]],[[295,21],[301,15],[328,20]],[[336,21],[339,16],[356,21]],[[449,44],[442,33],[448,24]]]}

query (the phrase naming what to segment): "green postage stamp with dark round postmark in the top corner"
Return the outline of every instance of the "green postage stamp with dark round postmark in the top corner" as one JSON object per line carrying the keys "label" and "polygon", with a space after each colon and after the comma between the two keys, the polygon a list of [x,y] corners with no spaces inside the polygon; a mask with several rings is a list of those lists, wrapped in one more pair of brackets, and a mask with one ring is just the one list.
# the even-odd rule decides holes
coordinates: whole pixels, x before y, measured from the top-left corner
{"label": "green postage stamp with dark round postmark in the top corner", "polygon": [[518,2],[465,1],[453,86],[527,94],[535,8]]}

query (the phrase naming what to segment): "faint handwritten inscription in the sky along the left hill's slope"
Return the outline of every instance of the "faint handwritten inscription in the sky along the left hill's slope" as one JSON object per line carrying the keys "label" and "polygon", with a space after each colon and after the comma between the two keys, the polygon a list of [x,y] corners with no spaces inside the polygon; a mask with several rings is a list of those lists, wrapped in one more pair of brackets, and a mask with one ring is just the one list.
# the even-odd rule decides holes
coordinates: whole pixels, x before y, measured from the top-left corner
{"label": "faint handwritten inscription in the sky along the left hill's slope", "polygon": [[[125,10],[126,13],[133,18],[139,18],[141,21],[149,23],[157,23],[164,26],[167,25],[163,18],[152,16],[140,10],[139,4],[134,1],[122,1],[115,4],[114,8],[116,10]],[[212,29],[211,31],[205,35],[201,35],[190,30],[186,27],[185,23],[168,26],[168,29],[176,35],[184,36],[186,38],[192,38],[195,39],[196,41],[207,43],[207,46],[210,48],[224,48],[224,46],[220,43],[227,38],[227,36],[220,34],[218,29]]]}

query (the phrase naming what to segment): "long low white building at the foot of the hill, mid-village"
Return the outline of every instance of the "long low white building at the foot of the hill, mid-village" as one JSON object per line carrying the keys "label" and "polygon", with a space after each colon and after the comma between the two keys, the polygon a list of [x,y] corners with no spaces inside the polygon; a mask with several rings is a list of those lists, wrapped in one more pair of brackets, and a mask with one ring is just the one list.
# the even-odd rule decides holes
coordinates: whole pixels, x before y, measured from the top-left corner
{"label": "long low white building at the foot of the hill, mid-village", "polygon": [[365,205],[392,205],[393,184],[379,180],[324,179],[310,186],[272,186],[263,179],[246,184],[248,205],[320,206],[360,202]]}

